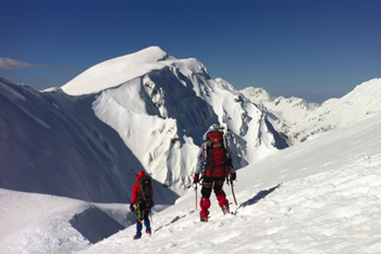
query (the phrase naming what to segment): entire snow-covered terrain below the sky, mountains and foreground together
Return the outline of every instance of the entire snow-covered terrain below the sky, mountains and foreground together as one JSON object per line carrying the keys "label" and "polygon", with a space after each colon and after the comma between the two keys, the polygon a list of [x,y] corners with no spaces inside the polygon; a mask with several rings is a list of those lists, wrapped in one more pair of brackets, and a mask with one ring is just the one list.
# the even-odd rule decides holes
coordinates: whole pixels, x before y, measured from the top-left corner
{"label": "entire snow-covered terrain below the sky, mountains and foreground together", "polygon": [[[0,79],[0,253],[379,252],[380,79],[315,110],[299,99],[270,109],[211,79],[199,61],[151,47],[62,89],[73,96]],[[200,224],[187,187],[216,122],[246,167],[237,206],[225,187],[236,215],[223,216],[212,198]],[[286,147],[275,130],[283,123],[296,144]],[[156,179],[159,205],[153,234],[133,241],[126,203],[139,169]]]}

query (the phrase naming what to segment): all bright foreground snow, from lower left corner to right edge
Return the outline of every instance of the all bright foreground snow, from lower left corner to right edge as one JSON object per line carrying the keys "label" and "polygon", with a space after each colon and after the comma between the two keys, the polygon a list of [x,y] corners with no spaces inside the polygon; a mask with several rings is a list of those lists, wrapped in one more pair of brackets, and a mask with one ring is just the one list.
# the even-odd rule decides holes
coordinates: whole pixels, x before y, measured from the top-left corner
{"label": "all bright foreground snow, from lower left corner to right edge", "polygon": [[[189,191],[155,213],[152,236],[140,240],[127,204],[1,190],[1,253],[379,253],[380,125],[373,113],[239,169],[237,206],[224,188],[236,215],[223,216],[212,194],[200,223]],[[90,244],[69,220],[91,205],[126,228]],[[98,217],[87,224],[101,229],[107,216]]]}

